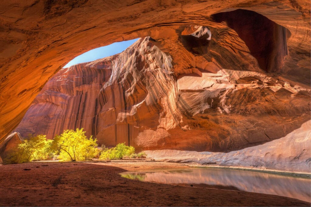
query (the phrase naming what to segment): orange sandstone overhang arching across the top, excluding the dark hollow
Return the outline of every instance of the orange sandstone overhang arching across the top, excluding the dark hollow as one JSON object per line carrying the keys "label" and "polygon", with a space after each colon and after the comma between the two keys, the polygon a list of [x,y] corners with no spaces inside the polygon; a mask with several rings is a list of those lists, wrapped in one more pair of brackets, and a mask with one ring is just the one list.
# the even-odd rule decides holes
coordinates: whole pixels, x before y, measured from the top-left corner
{"label": "orange sandstone overhang arching across the top, excluding the dark hollow", "polygon": [[[200,60],[191,55],[174,55],[170,48],[175,45],[185,25],[225,27],[211,20],[210,16],[232,10],[227,8],[256,11],[290,30],[291,38],[287,42],[289,55],[284,61],[280,79],[285,80],[285,85],[289,84],[288,88],[299,88],[300,93],[309,95],[308,1],[64,2],[6,1],[0,8],[1,140],[17,126],[47,80],[72,59],[70,55],[77,56],[115,41],[151,36],[162,51],[172,53],[176,75],[195,72],[193,66]],[[177,48],[176,53],[185,53],[184,47]],[[249,83],[252,80],[239,81]],[[301,108],[303,113],[308,111],[308,103],[302,104]],[[308,115],[304,119],[309,119]]]}

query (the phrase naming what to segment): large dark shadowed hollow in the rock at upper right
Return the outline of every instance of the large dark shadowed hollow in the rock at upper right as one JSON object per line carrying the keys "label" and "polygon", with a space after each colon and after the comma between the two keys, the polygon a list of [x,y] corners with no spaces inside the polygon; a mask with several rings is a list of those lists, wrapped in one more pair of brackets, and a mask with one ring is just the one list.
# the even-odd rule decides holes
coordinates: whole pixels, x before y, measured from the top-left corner
{"label": "large dark shadowed hollow in the rock at upper right", "polygon": [[246,43],[262,70],[281,70],[287,52],[290,31],[254,11],[237,9],[211,16],[216,22],[225,21]]}

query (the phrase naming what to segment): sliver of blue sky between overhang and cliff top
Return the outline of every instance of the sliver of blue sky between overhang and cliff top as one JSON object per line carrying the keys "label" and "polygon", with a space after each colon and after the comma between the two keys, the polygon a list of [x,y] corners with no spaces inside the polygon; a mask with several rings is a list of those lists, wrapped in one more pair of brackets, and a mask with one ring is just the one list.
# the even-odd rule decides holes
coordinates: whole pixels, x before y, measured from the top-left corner
{"label": "sliver of blue sky between overhang and cliff top", "polygon": [[139,38],[128,40],[128,41],[123,41],[123,42],[118,42],[118,43],[112,43],[111,45],[95,48],[93,50],[90,50],[88,52],[85,52],[73,58],[72,61],[68,62],[67,65],[64,66],[64,68],[70,67],[72,65],[76,65],[78,63],[95,61],[100,58],[118,54],[120,52],[123,52],[126,48],[131,46],[133,43],[135,43],[138,39]]}

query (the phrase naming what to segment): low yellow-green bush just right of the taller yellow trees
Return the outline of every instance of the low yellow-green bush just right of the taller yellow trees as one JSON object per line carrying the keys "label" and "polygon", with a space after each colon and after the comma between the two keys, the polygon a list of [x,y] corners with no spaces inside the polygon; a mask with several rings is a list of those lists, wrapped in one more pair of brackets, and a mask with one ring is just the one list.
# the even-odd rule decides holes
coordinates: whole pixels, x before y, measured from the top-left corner
{"label": "low yellow-green bush just right of the taller yellow trees", "polygon": [[105,148],[101,154],[100,160],[120,160],[123,157],[129,157],[135,152],[135,148],[133,146],[126,146],[124,143],[119,143],[117,146],[113,148]]}

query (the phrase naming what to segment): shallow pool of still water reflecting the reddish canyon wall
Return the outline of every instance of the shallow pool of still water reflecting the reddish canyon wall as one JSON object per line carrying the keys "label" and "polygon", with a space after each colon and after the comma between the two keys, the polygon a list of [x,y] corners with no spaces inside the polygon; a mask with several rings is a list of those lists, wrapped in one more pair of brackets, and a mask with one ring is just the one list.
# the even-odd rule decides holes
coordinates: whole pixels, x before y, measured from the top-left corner
{"label": "shallow pool of still water reflecting the reddish canyon wall", "polygon": [[[248,192],[286,196],[310,202],[311,180],[279,174],[228,169],[184,169],[126,173],[125,178],[173,185],[240,189]],[[198,185],[200,184],[200,185]],[[202,185],[203,184],[203,185]],[[230,188],[226,188],[230,187]]]}

